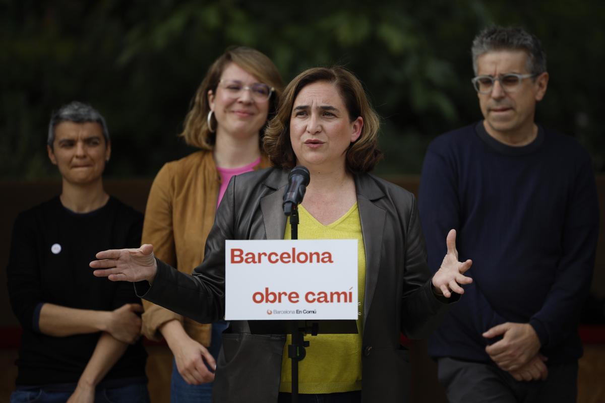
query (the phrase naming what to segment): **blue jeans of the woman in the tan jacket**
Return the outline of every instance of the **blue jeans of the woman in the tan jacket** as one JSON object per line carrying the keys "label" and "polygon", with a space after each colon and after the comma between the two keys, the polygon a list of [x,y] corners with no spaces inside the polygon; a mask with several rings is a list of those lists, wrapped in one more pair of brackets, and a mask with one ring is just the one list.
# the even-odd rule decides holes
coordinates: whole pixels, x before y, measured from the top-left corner
{"label": "blue jeans of the woman in the tan jacket", "polygon": [[[217,359],[221,349],[223,330],[229,322],[212,323],[212,336],[208,351]],[[210,403],[212,401],[212,382],[201,385],[189,385],[178,373],[177,363],[172,360],[172,379],[170,383],[170,401],[172,403]]]}

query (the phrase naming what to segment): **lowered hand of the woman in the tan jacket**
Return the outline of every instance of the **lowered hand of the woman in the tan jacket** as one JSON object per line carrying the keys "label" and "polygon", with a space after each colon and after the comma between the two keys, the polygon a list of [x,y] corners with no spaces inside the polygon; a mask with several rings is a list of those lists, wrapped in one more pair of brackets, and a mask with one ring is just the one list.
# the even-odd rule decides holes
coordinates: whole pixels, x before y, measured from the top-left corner
{"label": "lowered hand of the woman in the tan jacket", "polygon": [[[192,338],[187,337],[172,350],[177,363],[178,373],[183,376],[189,385],[199,385],[214,381],[214,372],[208,370],[206,363],[216,369],[217,364],[212,354]],[[204,360],[206,363],[204,363]]]}

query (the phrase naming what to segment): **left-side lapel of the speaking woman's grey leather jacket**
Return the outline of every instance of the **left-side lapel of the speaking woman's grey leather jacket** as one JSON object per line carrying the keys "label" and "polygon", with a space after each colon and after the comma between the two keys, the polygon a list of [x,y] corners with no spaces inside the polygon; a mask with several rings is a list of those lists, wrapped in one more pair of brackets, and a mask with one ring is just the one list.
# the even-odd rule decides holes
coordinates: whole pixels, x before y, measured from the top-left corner
{"label": "left-side lapel of the speaking woman's grey leather jacket", "polygon": [[267,239],[284,239],[286,216],[282,204],[284,188],[287,184],[288,174],[281,169],[274,169],[263,183],[273,189],[273,192],[261,198],[261,211]]}

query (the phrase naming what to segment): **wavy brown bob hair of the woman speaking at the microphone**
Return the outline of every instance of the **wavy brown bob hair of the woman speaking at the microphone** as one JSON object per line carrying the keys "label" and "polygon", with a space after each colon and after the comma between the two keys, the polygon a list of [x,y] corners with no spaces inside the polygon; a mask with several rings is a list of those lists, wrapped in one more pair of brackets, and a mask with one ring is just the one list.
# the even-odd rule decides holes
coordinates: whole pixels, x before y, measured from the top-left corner
{"label": "wavy brown bob hair of the woman speaking at the microphone", "polygon": [[302,88],[320,81],[336,86],[351,121],[360,116],[364,120],[361,135],[347,149],[346,161],[350,172],[369,172],[382,158],[382,152],[378,150],[380,118],[370,106],[361,82],[341,66],[307,69],[287,85],[277,114],[265,131],[265,152],[273,166],[291,169],[296,165],[296,156],[290,143],[290,116],[294,100]]}

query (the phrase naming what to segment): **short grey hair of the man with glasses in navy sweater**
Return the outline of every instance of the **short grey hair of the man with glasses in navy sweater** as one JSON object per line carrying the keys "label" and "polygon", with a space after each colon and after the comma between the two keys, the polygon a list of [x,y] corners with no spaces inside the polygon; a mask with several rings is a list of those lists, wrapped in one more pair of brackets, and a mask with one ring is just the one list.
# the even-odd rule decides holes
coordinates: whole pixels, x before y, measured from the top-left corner
{"label": "short grey hair of the man with glasses in navy sweater", "polygon": [[528,73],[542,74],[546,71],[546,53],[537,36],[521,27],[489,27],[473,39],[473,70],[477,75],[477,59],[482,54],[497,50],[523,50],[528,54]]}

